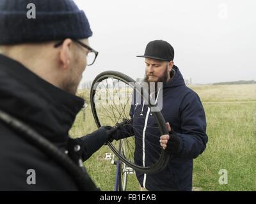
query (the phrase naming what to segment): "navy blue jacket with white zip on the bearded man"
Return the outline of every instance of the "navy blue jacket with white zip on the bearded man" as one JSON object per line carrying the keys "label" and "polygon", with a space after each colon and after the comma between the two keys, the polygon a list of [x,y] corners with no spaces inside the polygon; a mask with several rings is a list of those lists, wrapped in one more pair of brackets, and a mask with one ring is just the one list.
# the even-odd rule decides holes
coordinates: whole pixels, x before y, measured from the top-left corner
{"label": "navy blue jacket with white zip on the bearded man", "polygon": [[[136,172],[141,186],[149,191],[191,191],[193,159],[204,152],[207,143],[205,112],[196,92],[186,87],[182,74],[177,66],[173,66],[174,76],[163,85],[163,109],[161,110],[166,122],[170,123],[172,129],[180,137],[179,152],[170,159],[168,166],[161,172],[155,174],[143,174]],[[141,114],[142,112],[142,114]],[[148,113],[148,114],[147,114]],[[148,106],[141,103],[132,105],[130,115],[133,120],[133,130],[124,127],[118,135],[134,132],[136,148],[134,162],[143,165],[142,140],[145,118],[147,118],[147,129],[145,129],[145,165],[153,163],[157,159],[159,151],[152,149],[156,144],[159,146],[159,137],[152,136],[160,133],[156,127],[156,120],[150,114]],[[150,155],[148,155],[150,152]]]}

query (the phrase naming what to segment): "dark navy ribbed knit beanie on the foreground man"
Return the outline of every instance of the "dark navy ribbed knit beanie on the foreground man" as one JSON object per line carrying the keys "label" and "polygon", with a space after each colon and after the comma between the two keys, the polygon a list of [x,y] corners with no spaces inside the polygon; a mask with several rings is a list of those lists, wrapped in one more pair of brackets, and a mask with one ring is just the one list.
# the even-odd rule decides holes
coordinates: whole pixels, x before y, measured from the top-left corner
{"label": "dark navy ribbed knit beanie on the foreground man", "polygon": [[[31,3],[35,18],[27,17]],[[0,0],[0,45],[90,36],[88,19],[72,0]]]}

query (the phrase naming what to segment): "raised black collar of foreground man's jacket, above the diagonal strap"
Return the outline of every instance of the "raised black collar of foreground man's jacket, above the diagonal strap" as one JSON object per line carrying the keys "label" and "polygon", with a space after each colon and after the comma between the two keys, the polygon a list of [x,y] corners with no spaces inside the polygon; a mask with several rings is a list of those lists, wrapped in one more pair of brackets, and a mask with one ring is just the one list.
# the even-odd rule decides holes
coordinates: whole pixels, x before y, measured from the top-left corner
{"label": "raised black collar of foreground man's jacket, above the diagonal strap", "polygon": [[52,142],[65,142],[84,100],[0,55],[0,109]]}

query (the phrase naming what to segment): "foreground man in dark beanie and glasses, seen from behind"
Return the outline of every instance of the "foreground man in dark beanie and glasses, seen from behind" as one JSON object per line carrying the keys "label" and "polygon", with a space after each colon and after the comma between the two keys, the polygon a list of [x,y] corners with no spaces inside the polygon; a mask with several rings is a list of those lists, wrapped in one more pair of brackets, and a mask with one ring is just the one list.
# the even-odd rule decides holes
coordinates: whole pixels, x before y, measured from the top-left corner
{"label": "foreground man in dark beanie and glasses, seen from behind", "polygon": [[[36,18],[27,17],[30,3]],[[70,175],[77,172],[72,162],[83,166],[81,157],[86,160],[109,137],[104,128],[76,140],[68,137],[84,105],[74,94],[98,54],[88,44],[90,36],[86,15],[74,1],[0,1],[0,191],[84,189],[77,184],[79,175],[77,180]],[[40,134],[36,141],[51,142],[48,146],[58,147],[64,158],[68,154],[72,168],[61,167],[62,161],[27,140],[29,133]]]}

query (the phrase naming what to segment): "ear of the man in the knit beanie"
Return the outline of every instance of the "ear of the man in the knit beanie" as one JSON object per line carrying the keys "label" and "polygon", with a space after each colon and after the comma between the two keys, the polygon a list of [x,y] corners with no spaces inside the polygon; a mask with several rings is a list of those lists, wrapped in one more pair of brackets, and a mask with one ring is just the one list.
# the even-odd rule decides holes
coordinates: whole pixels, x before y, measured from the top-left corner
{"label": "ear of the man in the knit beanie", "polygon": [[70,66],[70,46],[71,46],[72,40],[66,39],[63,41],[61,48],[60,48],[60,62],[61,62],[61,68],[67,69]]}

